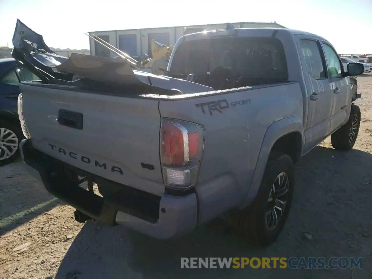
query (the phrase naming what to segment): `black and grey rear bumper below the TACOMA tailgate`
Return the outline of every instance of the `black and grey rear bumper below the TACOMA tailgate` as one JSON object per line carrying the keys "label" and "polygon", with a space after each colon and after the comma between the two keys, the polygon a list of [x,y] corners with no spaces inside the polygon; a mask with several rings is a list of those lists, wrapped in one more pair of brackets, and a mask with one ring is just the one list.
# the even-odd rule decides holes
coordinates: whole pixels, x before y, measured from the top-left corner
{"label": "black and grey rear bumper below the TACOMA tailgate", "polygon": [[[148,193],[123,188],[123,192],[115,194],[115,197],[102,198],[79,187],[67,176],[60,176],[58,172],[68,166],[61,162],[54,164],[51,157],[49,159],[45,154],[39,155],[38,151],[33,150],[30,140],[26,139],[20,143],[20,153],[25,168],[44,183],[49,193],[97,221],[109,225],[124,225],[151,237],[163,239],[187,234],[197,225],[198,206],[195,193],[186,196],[164,194],[161,197],[149,197]],[[124,185],[123,187],[130,188]],[[136,214],[133,214],[136,206],[141,212],[137,210]],[[155,218],[149,220],[146,217],[151,215],[150,211],[157,212]]]}

